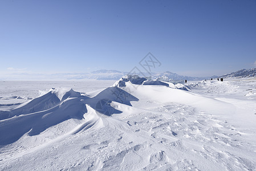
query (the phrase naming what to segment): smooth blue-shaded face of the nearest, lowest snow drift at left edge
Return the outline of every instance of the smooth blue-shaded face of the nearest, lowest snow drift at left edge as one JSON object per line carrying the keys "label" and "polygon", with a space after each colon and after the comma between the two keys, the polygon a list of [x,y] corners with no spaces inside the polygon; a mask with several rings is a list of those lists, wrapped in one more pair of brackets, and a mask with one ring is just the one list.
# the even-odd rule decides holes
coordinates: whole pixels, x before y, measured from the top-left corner
{"label": "smooth blue-shaded face of the nearest, lowest snow drift at left edge", "polygon": [[64,120],[83,119],[87,109],[80,100],[82,99],[68,99],[46,111],[27,115],[20,113],[18,117],[2,120],[0,122],[0,145],[14,143],[25,133],[28,133],[29,136],[38,135]]}

